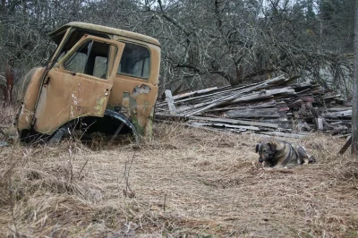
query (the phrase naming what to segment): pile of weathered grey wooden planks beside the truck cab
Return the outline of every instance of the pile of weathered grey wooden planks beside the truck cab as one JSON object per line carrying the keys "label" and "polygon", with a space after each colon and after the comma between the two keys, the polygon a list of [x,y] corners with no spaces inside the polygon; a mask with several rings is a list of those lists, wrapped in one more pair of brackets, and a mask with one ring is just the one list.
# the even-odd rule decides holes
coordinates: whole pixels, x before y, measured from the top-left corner
{"label": "pile of weathered grey wooden planks beside the truck cab", "polygon": [[156,119],[184,120],[189,126],[240,133],[302,138],[310,132],[349,134],[352,107],[319,83],[294,83],[279,76],[268,81],[202,89],[158,100]]}

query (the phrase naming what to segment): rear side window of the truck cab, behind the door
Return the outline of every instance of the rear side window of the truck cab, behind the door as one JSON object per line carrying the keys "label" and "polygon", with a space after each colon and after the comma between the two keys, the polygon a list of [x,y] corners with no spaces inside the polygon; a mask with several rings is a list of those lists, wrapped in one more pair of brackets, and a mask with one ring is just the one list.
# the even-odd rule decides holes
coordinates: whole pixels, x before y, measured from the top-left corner
{"label": "rear side window of the truck cab, behind the door", "polygon": [[117,73],[148,79],[149,69],[149,49],[126,42]]}

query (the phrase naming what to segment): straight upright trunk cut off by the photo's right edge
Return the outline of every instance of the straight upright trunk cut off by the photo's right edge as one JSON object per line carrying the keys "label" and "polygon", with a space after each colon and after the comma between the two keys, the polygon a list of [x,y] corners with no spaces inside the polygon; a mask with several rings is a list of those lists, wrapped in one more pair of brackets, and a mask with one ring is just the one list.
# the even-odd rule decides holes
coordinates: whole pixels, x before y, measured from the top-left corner
{"label": "straight upright trunk cut off by the photo's right edge", "polygon": [[358,155],[358,1],[354,13],[354,81],[352,103],[352,155]]}

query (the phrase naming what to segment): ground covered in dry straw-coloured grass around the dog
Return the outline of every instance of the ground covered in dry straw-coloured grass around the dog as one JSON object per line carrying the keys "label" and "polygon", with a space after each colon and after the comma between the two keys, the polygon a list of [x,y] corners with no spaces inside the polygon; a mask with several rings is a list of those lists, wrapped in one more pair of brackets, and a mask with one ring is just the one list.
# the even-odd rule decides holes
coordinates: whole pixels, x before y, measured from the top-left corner
{"label": "ground covered in dry straw-coloured grass around the dog", "polygon": [[250,134],[155,124],[140,146],[68,140],[0,149],[1,237],[357,237],[358,162],[345,140],[317,164],[264,170]]}

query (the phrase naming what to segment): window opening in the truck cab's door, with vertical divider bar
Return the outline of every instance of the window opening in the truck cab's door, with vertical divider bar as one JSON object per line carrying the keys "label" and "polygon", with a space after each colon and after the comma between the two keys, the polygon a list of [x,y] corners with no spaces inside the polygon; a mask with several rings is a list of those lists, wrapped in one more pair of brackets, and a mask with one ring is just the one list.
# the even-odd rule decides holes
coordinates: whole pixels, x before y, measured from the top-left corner
{"label": "window opening in the truck cab's door, with vertical divider bar", "polygon": [[64,62],[64,69],[107,79],[109,50],[107,43],[86,41]]}

